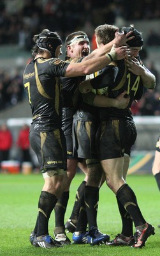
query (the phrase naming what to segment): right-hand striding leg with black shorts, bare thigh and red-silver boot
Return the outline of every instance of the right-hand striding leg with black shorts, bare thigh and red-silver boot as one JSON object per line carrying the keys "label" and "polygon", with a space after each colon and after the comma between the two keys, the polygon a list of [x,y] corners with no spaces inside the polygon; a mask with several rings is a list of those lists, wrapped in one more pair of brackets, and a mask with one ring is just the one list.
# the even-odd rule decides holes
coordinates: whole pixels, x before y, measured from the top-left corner
{"label": "right-hand striding leg with black shorts, bare thigh and red-silver boot", "polygon": [[[110,120],[110,122],[103,124],[99,145],[100,159],[106,175],[106,183],[133,219],[136,228],[134,247],[137,248],[144,246],[147,238],[154,234],[154,227],[143,218],[142,212],[138,207],[136,195],[123,178],[125,140],[126,138],[130,139],[133,128],[133,122],[128,124],[123,120]],[[135,132],[133,132],[133,136],[136,136]]]}

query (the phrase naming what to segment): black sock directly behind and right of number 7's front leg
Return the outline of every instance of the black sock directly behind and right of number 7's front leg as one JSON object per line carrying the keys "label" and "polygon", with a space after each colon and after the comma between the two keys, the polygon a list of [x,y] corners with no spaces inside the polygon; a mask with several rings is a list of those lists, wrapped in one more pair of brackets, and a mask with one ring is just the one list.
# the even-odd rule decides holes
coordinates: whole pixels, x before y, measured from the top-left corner
{"label": "black sock directly behind and right of number 7's front leg", "polygon": [[[55,227],[64,227],[64,215],[69,199],[69,191],[64,191],[54,207]],[[64,228],[65,230],[65,228]],[[56,234],[56,231],[55,231]]]}

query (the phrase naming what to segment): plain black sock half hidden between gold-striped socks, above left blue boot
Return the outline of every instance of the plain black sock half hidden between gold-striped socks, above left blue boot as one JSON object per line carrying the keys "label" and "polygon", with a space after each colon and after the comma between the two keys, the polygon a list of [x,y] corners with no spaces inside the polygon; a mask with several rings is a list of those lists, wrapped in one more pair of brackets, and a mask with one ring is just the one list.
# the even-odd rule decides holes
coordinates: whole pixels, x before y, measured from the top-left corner
{"label": "plain black sock half hidden between gold-striped socks, above left blue boot", "polygon": [[80,212],[78,215],[78,222],[76,223],[76,231],[85,232],[87,229],[87,213],[85,211],[84,195],[80,200]]}

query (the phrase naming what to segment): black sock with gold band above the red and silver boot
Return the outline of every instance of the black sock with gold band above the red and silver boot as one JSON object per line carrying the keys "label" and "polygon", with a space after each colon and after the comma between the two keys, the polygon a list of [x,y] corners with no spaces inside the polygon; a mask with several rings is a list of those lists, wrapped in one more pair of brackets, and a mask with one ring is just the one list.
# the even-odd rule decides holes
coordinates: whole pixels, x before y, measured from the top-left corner
{"label": "black sock with gold band above the red and silver boot", "polygon": [[117,198],[124,206],[126,211],[129,213],[131,218],[133,218],[135,227],[146,223],[145,219],[142,216],[142,212],[138,207],[136,195],[127,184],[124,184],[119,188],[119,190],[117,191]]}

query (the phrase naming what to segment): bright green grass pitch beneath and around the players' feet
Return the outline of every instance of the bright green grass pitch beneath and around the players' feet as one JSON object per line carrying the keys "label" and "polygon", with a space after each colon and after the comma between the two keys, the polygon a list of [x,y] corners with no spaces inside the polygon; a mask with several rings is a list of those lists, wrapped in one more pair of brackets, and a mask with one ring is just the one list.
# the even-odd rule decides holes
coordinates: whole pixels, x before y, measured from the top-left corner
{"label": "bright green grass pitch beneath and around the players' feet", "polygon": [[[75,191],[84,178],[83,174],[77,174],[71,184],[69,204],[66,218],[69,218]],[[154,225],[156,235],[150,236],[146,246],[142,249],[133,249],[129,246],[90,246],[69,245],[64,248],[34,248],[29,243],[29,234],[34,227],[37,216],[37,205],[40,191],[43,186],[41,174],[33,175],[4,175],[0,174],[0,255],[4,256],[159,256],[160,253],[160,193],[156,181],[152,175],[129,175],[127,183],[136,193],[138,204],[142,209],[145,219]],[[99,229],[111,238],[121,231],[121,221],[117,209],[115,195],[103,184],[100,189],[98,207]],[[52,236],[54,228],[54,212],[50,218],[49,230]],[[113,234],[113,236],[112,236]],[[71,239],[69,233],[68,237]]]}

